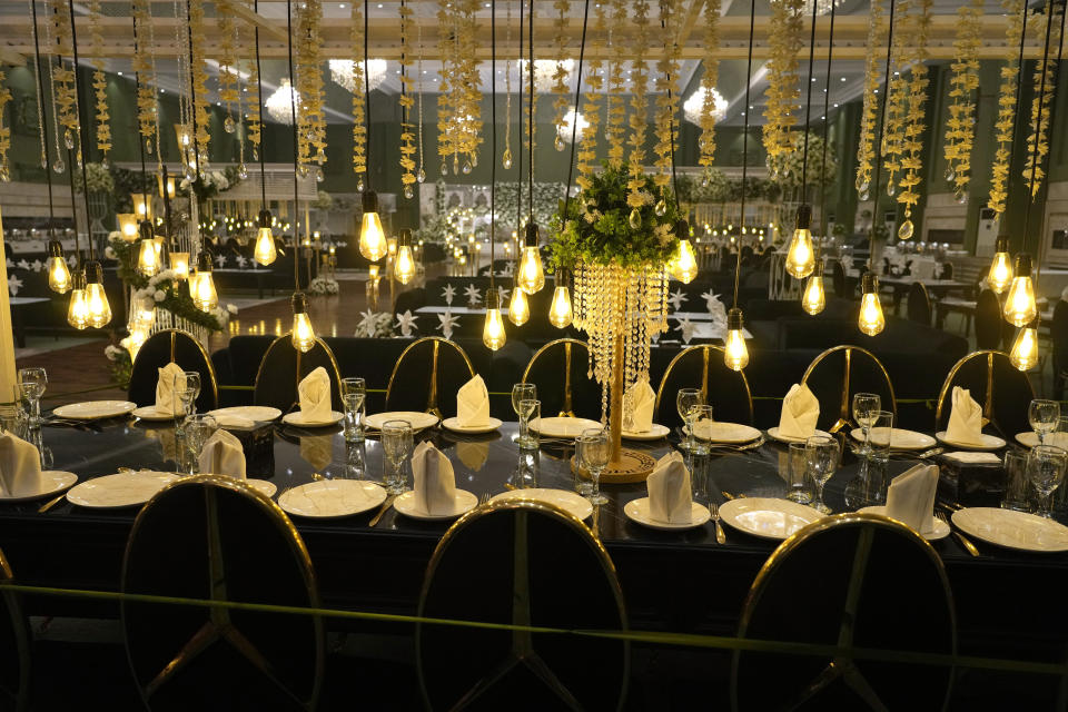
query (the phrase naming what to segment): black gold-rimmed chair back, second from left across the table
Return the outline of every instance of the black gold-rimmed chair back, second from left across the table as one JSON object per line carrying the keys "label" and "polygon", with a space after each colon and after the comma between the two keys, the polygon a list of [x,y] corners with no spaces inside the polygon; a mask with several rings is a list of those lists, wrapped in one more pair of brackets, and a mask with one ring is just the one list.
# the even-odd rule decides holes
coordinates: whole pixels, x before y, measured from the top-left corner
{"label": "black gold-rimmed chair back, second from left across the table", "polygon": [[295,409],[300,402],[297,394],[300,380],[319,366],[330,377],[330,407],[340,411],[342,376],[330,347],[317,338],[312,350],[303,354],[294,347],[290,334],[276,338],[259,362],[253,402],[278,408],[283,413]]}

